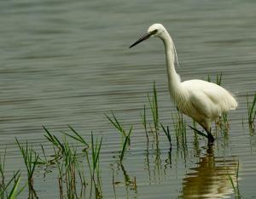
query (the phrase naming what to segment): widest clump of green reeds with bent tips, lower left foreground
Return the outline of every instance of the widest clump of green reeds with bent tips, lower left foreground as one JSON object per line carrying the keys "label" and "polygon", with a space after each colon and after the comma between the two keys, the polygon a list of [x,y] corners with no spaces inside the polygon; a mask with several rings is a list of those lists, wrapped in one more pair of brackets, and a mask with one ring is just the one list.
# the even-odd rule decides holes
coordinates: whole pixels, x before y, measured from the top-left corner
{"label": "widest clump of green reeds with bent tips, lower left foreground", "polygon": [[[77,147],[74,147],[67,141],[67,137],[78,141],[84,146],[84,156],[90,170],[90,196],[92,187],[96,189],[97,196],[101,196],[100,188],[100,151],[102,147],[102,138],[94,138],[93,133],[90,134],[90,144],[71,126],[68,126],[72,134],[61,132],[66,137],[63,140],[58,139],[55,135],[51,134],[47,128],[44,127],[46,135],[44,135],[50,143],[54,146],[55,156],[57,157],[57,164],[59,176],[59,190],[61,198],[80,198],[85,196],[85,174],[81,168],[81,162],[77,152]],[[61,151],[61,154],[60,154]],[[59,156],[59,157],[58,157]],[[60,161],[62,160],[62,161]],[[79,178],[78,178],[78,177]],[[79,179],[79,181],[78,181]],[[78,190],[79,185],[79,190]]]}

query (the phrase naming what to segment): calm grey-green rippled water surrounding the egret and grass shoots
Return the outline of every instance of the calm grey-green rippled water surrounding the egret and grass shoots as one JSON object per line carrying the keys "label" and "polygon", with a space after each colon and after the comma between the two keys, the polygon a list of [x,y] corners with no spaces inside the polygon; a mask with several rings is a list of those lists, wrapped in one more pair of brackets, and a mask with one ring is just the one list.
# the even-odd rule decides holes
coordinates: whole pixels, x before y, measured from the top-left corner
{"label": "calm grey-green rippled water surrounding the egret and grass shoots", "polygon": [[[172,128],[163,45],[157,39],[129,49],[148,26],[160,22],[176,43],[183,80],[215,78],[236,94],[228,139],[212,149],[204,139],[194,145],[188,129],[187,150],[160,134],[160,154],[147,151],[140,111],[153,82],[160,100],[160,121]],[[246,95],[256,85],[256,3],[254,1],[1,1],[0,2],[0,148],[7,145],[7,171],[23,162],[15,137],[40,143],[48,153],[42,125],[54,132],[76,128],[84,137],[103,135],[102,195],[113,198],[234,197],[227,173],[240,162],[241,196],[255,197],[256,138],[249,134]],[[125,127],[134,124],[124,165],[113,156],[119,134],[103,113],[114,111]],[[190,122],[190,119],[186,117]],[[174,136],[173,136],[174,137]],[[49,151],[48,151],[49,150]],[[49,154],[50,155],[50,154]],[[23,174],[25,176],[25,168]],[[58,198],[56,175],[37,170],[39,198]],[[124,178],[137,179],[137,190]],[[25,178],[25,177],[24,177]],[[26,193],[24,196],[26,198]]]}

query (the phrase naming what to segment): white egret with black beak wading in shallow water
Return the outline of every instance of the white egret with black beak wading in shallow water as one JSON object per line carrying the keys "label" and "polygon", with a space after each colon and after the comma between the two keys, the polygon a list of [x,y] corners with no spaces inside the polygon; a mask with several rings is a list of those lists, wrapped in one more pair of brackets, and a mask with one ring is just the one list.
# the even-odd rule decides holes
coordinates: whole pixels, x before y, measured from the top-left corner
{"label": "white egret with black beak wading in shallow water", "polygon": [[212,82],[199,79],[181,82],[174,67],[177,54],[172,37],[161,24],[150,26],[148,33],[139,38],[130,48],[151,37],[159,37],[165,45],[168,86],[172,100],[179,111],[201,124],[207,131],[208,142],[212,143],[214,138],[211,134],[211,122],[223,113],[235,110],[236,99],[229,91]]}

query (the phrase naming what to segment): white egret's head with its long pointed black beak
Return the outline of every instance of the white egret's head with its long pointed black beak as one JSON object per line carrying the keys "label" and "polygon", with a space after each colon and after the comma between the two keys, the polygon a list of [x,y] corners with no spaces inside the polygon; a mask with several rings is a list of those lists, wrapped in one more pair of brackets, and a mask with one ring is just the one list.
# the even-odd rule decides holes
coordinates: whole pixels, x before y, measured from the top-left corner
{"label": "white egret's head with its long pointed black beak", "polygon": [[147,40],[150,37],[161,37],[162,34],[166,32],[166,28],[161,24],[154,24],[148,28],[148,33],[140,37],[135,43],[131,44],[130,48],[136,46],[138,43],[141,43]]}

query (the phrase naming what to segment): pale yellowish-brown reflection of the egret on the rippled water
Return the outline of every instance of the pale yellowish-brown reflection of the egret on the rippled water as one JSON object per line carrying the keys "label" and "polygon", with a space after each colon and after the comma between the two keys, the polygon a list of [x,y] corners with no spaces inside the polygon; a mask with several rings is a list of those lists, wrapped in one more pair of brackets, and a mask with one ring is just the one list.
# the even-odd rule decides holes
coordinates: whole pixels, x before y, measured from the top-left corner
{"label": "pale yellowish-brown reflection of the egret on the rippled water", "polygon": [[236,157],[214,156],[212,146],[209,146],[197,164],[183,179],[182,198],[229,197],[233,192],[229,175],[236,178]]}

